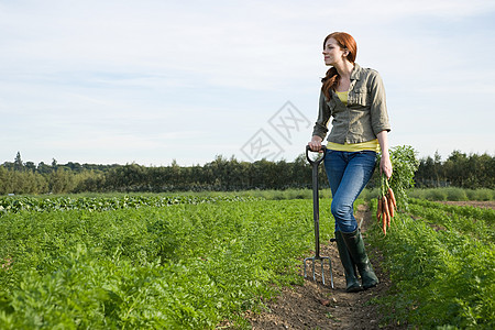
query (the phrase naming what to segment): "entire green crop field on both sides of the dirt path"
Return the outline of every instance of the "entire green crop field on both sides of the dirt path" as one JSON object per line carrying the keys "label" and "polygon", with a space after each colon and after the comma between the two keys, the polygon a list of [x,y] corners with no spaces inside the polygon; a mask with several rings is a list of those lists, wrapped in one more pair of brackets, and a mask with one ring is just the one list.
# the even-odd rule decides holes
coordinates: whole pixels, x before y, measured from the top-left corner
{"label": "entire green crop field on both sides of the dirt path", "polygon": [[[329,202],[322,244],[333,235]],[[373,217],[366,229],[389,276],[386,290],[363,293],[380,312],[373,327],[492,329],[495,211],[411,199],[394,220],[386,237]],[[287,285],[309,283],[329,299],[342,290],[301,276],[314,248],[306,197],[2,197],[0,241],[1,329],[249,329],[246,315],[266,316]],[[331,304],[319,310],[329,324],[349,322]]]}

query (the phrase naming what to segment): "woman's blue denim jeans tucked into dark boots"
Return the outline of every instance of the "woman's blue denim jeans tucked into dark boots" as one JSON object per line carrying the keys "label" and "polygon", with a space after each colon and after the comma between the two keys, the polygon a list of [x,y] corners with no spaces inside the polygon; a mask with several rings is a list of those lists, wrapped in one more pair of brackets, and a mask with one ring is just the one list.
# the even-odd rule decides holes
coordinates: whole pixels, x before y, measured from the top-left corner
{"label": "woman's blue denim jeans tucked into dark boots", "polygon": [[336,218],[336,231],[353,232],[358,229],[353,212],[354,200],[373,175],[376,153],[328,150],[323,162],[332,190],[331,211]]}

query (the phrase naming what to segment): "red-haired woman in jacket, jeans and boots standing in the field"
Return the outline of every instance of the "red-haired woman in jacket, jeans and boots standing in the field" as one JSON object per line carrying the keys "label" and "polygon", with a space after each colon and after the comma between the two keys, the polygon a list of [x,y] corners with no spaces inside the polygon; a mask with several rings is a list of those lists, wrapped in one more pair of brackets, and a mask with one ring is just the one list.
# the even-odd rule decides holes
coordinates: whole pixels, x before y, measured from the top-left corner
{"label": "red-haired woman in jacket, jeans and boots standing in the field", "polygon": [[[387,178],[392,176],[385,90],[377,72],[362,68],[354,62],[356,51],[356,43],[348,33],[334,32],[324,38],[324,64],[331,68],[321,79],[318,120],[308,143],[311,151],[321,150],[332,118],[323,162],[332,190],[331,211],[336,218],[336,240],[345,271],[346,292],[378,284],[353,215],[354,200],[373,174],[377,152],[382,151],[381,173]],[[362,284],[358,280],[356,267]]]}

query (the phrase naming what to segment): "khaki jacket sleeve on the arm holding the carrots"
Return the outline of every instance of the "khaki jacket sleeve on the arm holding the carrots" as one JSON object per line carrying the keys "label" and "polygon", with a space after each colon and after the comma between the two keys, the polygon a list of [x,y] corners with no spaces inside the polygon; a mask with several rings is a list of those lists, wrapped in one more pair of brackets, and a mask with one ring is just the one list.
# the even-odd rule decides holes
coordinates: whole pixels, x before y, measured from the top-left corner
{"label": "khaki jacket sleeve on the arm holding the carrots", "polygon": [[376,135],[382,131],[391,131],[388,112],[385,97],[385,87],[378,73],[370,77],[369,90],[371,94],[371,123],[373,133]]}

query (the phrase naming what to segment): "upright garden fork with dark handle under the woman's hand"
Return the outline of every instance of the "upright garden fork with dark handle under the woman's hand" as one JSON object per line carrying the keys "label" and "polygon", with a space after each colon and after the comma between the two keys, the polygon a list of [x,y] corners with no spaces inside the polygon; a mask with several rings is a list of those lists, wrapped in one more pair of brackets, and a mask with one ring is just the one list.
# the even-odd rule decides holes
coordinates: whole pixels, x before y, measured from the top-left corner
{"label": "upright garden fork with dark handle under the woman's hand", "polygon": [[328,261],[328,265],[330,267],[330,282],[332,284],[333,288],[333,274],[332,274],[332,261],[329,256],[321,256],[320,255],[320,204],[319,204],[319,197],[318,197],[318,165],[323,161],[324,155],[327,154],[327,148],[324,146],[321,146],[322,150],[322,156],[312,161],[309,157],[309,145],[306,145],[306,158],[308,160],[309,164],[312,166],[312,217],[315,219],[315,256],[307,257],[304,261],[305,266],[305,277],[306,277],[306,262],[311,261],[312,262],[312,279],[316,282],[316,274],[315,274],[315,263],[317,261],[321,262],[321,278],[324,285],[324,261]]}

